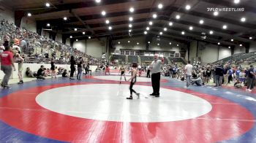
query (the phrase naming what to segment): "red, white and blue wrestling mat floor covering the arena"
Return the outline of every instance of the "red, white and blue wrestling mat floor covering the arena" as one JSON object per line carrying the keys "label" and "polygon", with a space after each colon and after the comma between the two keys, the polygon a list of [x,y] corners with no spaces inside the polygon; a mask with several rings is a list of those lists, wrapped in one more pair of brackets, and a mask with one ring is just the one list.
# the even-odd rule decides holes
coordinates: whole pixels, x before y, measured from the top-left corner
{"label": "red, white and blue wrestling mat floor covering the arena", "polygon": [[162,77],[160,98],[138,77],[140,98],[116,73],[36,80],[0,89],[0,142],[256,142],[256,92]]}

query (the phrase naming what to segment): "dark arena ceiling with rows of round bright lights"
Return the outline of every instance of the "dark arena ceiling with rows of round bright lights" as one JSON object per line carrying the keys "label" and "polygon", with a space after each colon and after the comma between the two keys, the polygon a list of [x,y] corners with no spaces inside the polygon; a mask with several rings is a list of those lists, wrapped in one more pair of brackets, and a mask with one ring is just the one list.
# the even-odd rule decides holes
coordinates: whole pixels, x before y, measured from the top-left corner
{"label": "dark arena ceiling with rows of round bright lights", "polygon": [[[45,7],[46,2],[50,7]],[[23,12],[25,16],[31,12],[29,18],[37,20],[39,26],[48,28],[46,25],[50,23],[53,31],[72,36],[73,39],[88,36],[121,39],[129,36],[129,29],[132,29],[133,36],[144,36],[146,27],[149,27],[145,36],[162,36],[182,42],[200,39],[228,46],[247,45],[255,41],[255,0],[243,0],[239,4],[235,4],[234,0],[101,0],[100,3],[95,0],[1,0],[0,3],[12,7],[16,12]],[[158,8],[159,4],[163,5],[162,9]],[[191,9],[185,8],[187,4]],[[135,11],[129,12],[130,7]],[[244,8],[244,12],[219,12],[214,16],[214,12],[207,10],[211,7]],[[106,15],[101,14],[103,10]],[[152,18],[154,14],[157,14],[155,19]],[[180,19],[177,20],[176,15]],[[130,17],[132,21],[129,21]],[[246,18],[246,21],[241,22],[241,18]],[[110,23],[105,23],[106,20]],[[204,23],[200,24],[200,20]],[[149,21],[153,22],[152,26],[148,24]],[[169,26],[170,22],[172,26]],[[129,28],[129,24],[132,24],[132,28]],[[224,25],[226,29],[222,28]],[[190,26],[192,30],[189,30]],[[78,30],[75,31],[75,28]],[[167,31],[163,28],[167,28]],[[162,35],[159,34],[161,31]],[[181,34],[181,31],[185,34]],[[209,31],[214,34],[209,34]],[[206,33],[206,39],[201,39],[202,32]]]}

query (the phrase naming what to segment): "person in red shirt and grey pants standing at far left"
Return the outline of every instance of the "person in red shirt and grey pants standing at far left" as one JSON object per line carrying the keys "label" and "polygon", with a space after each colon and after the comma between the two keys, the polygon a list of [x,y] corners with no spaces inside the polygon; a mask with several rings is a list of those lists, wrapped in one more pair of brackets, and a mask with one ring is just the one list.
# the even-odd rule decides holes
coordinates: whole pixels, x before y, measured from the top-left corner
{"label": "person in red shirt and grey pants standing at far left", "polygon": [[13,70],[15,71],[15,66],[13,63],[13,55],[11,52],[11,48],[9,46],[5,47],[4,53],[0,55],[1,58],[1,71],[4,71],[4,78],[3,81],[1,82],[1,87],[3,88],[11,88],[8,85],[8,82],[10,80],[10,77],[12,75],[12,67]]}

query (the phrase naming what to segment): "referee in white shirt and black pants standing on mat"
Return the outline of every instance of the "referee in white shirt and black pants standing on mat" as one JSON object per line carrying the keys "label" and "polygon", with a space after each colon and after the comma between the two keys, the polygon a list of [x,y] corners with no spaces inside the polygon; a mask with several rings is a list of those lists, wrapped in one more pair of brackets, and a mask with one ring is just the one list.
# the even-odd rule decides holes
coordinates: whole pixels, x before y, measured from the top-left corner
{"label": "referee in white shirt and black pants standing on mat", "polygon": [[158,55],[154,55],[154,61],[151,63],[151,81],[153,93],[151,96],[159,97],[159,88],[160,88],[160,76],[161,76],[161,66],[164,63],[164,58],[159,60]]}

